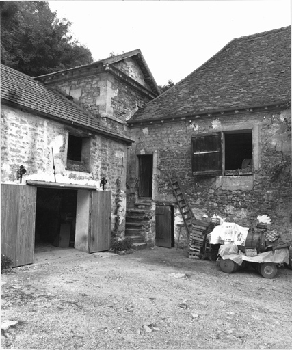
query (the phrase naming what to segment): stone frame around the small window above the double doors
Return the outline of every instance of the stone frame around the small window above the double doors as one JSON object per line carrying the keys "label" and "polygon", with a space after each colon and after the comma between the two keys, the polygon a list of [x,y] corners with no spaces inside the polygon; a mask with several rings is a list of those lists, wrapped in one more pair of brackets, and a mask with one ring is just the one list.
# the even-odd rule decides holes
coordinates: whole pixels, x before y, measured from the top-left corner
{"label": "stone frame around the small window above the double doors", "polygon": [[[75,136],[82,139],[81,146],[81,161],[74,161],[68,159],[68,146],[69,136]],[[74,132],[68,132],[66,137],[66,170],[77,171],[77,172],[88,172],[90,173],[90,149],[91,149],[92,137],[77,135]]]}

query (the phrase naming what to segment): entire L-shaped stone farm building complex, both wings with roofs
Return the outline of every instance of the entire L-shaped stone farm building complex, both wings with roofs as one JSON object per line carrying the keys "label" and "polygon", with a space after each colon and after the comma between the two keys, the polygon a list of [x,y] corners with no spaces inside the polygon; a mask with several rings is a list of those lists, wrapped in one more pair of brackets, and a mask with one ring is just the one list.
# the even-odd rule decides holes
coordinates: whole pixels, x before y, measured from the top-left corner
{"label": "entire L-shaped stone farm building complex, both wings with roofs", "polygon": [[174,177],[196,219],[291,231],[290,53],[290,27],[237,38],[163,94],[140,50],[35,78],[2,66],[3,252],[183,247]]}

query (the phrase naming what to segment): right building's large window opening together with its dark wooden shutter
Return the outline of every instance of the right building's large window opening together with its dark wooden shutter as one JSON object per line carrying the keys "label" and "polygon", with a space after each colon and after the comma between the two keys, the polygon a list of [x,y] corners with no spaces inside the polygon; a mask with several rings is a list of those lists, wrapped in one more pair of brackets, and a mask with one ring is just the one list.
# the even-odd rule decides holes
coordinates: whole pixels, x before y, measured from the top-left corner
{"label": "right building's large window opening together with its dark wooden shutter", "polygon": [[258,126],[228,129],[191,138],[194,176],[251,175],[258,169]]}

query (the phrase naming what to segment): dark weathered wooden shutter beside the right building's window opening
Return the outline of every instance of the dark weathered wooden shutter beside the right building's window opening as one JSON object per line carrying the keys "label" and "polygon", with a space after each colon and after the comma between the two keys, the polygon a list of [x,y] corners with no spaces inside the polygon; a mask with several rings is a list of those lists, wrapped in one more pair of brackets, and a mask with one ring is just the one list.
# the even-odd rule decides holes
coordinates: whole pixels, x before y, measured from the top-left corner
{"label": "dark weathered wooden shutter beside the right building's window opening", "polygon": [[191,138],[193,175],[222,174],[221,133]]}

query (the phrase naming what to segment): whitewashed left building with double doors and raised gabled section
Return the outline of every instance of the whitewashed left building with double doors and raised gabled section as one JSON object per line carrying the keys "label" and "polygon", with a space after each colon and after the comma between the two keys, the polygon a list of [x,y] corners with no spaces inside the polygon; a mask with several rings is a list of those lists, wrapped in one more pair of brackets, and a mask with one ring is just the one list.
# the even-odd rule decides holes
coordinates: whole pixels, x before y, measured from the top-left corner
{"label": "whitewashed left building with double doors and raised gabled section", "polygon": [[140,50],[34,79],[1,66],[1,246],[16,266],[34,241],[96,252],[124,234],[126,121],[158,94]]}

